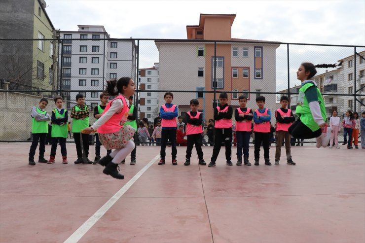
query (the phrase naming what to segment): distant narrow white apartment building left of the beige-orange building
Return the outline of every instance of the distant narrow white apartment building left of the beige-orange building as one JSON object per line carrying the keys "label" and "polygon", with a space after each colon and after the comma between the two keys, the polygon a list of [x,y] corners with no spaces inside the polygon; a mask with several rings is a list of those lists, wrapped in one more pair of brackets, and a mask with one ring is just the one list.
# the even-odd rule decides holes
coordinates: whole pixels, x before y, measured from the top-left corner
{"label": "distant narrow white apartment building left of the beige-orange building", "polygon": [[154,63],[152,68],[138,70],[139,89],[143,92],[138,93],[138,117],[155,118],[159,112],[158,92],[148,92],[158,90],[158,63]]}

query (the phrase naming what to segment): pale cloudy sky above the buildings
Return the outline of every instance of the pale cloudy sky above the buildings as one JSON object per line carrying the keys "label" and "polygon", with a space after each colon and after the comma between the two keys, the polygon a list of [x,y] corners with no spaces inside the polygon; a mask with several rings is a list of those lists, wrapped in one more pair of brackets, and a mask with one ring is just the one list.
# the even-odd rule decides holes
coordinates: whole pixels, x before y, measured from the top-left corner
{"label": "pale cloudy sky above the buildings", "polygon": [[[199,15],[236,14],[232,38],[331,45],[365,45],[364,0],[46,0],[53,26],[103,25],[113,38],[186,39]],[[358,51],[365,48],[357,48]],[[290,82],[297,64],[335,63],[351,47],[290,46]],[[152,41],[140,42],[140,68],[158,62]],[[287,46],[277,49],[277,90],[287,88]],[[286,80],[284,80],[286,79]],[[291,85],[293,86],[293,85]]]}

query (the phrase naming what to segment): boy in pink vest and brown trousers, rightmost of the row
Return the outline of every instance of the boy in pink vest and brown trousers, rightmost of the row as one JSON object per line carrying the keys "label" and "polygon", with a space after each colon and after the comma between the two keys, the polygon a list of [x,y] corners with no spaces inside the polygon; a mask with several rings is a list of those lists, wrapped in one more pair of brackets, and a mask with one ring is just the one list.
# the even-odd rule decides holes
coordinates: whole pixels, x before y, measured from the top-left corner
{"label": "boy in pink vest and brown trousers, rightmost of the row", "polygon": [[292,125],[292,122],[295,121],[295,117],[293,116],[292,110],[288,108],[289,97],[282,96],[280,98],[281,108],[277,109],[275,112],[276,117],[276,151],[275,151],[275,165],[279,165],[280,155],[281,155],[281,146],[285,139],[285,151],[287,154],[287,164],[295,165],[294,161],[292,161],[292,153],[290,150],[290,134],[288,132],[289,127]]}

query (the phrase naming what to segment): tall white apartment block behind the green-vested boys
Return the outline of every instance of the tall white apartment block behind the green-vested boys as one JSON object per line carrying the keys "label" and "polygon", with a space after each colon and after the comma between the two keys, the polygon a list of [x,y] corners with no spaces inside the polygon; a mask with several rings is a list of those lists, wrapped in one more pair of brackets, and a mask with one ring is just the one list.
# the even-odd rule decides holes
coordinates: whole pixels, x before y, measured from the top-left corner
{"label": "tall white apartment block behind the green-vested boys", "polygon": [[62,93],[72,107],[76,94],[82,93],[91,108],[100,103],[106,80],[123,76],[135,79],[136,44],[134,40],[113,39],[104,26],[78,25],[77,31],[61,31],[59,50]]}

